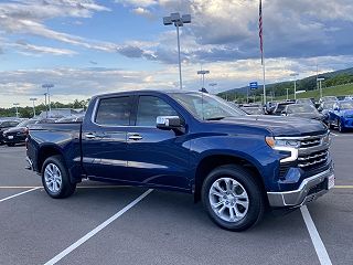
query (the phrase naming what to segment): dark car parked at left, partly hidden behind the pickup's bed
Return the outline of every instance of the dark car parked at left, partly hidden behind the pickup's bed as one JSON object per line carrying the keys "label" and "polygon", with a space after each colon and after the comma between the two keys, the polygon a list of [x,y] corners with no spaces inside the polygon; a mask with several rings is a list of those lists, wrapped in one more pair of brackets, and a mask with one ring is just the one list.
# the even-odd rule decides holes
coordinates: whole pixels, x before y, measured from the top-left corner
{"label": "dark car parked at left, partly hidden behind the pickup's bed", "polygon": [[32,118],[32,119],[24,120],[18,124],[18,126],[3,131],[2,134],[3,142],[9,147],[13,147],[17,144],[23,144],[26,138],[29,126],[34,124],[46,124],[46,123],[54,123],[54,121],[55,119],[49,119],[49,118]]}

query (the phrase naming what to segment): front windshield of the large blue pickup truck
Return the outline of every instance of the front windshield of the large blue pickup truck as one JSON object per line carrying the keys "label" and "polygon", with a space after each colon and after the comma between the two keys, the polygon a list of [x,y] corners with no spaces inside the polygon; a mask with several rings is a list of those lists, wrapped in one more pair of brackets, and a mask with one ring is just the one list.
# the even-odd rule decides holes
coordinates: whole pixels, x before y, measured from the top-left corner
{"label": "front windshield of the large blue pickup truck", "polygon": [[172,93],[169,94],[195,118],[202,120],[223,119],[246,115],[242,109],[228,104],[217,96],[205,93]]}

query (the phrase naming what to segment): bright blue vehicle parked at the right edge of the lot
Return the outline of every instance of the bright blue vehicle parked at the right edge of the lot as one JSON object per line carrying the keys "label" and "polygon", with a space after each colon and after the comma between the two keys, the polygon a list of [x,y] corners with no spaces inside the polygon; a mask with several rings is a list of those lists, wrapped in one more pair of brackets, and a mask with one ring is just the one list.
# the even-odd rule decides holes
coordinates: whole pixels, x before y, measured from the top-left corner
{"label": "bright blue vehicle parked at the right edge of the lot", "polygon": [[353,100],[336,102],[329,112],[329,127],[336,127],[341,132],[353,129]]}

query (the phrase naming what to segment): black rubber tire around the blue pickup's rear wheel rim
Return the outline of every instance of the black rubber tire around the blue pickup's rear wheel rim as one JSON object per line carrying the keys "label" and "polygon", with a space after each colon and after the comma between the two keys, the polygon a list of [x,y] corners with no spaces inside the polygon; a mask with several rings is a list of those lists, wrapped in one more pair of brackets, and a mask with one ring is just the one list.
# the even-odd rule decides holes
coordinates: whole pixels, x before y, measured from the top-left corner
{"label": "black rubber tire around the blue pickup's rear wheel rim", "polygon": [[[44,174],[45,174],[45,169],[49,165],[55,165],[60,170],[62,182],[61,182],[60,189],[56,192],[53,192],[45,181]],[[63,198],[71,197],[76,190],[76,183],[71,182],[69,174],[62,156],[49,157],[44,161],[42,167],[42,183],[46,193],[54,199],[63,199]]]}

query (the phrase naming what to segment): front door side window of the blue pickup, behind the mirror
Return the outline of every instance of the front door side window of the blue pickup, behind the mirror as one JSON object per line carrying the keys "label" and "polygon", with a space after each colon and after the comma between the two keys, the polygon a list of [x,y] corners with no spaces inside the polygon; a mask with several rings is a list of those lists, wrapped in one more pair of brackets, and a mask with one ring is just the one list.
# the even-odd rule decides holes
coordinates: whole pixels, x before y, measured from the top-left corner
{"label": "front door side window of the blue pickup, behind the mirror", "polygon": [[158,116],[179,116],[164,100],[154,96],[140,96],[136,126],[156,126]]}

